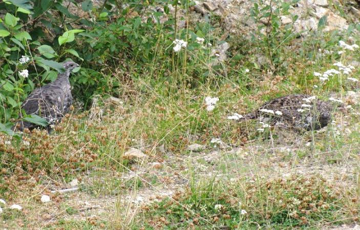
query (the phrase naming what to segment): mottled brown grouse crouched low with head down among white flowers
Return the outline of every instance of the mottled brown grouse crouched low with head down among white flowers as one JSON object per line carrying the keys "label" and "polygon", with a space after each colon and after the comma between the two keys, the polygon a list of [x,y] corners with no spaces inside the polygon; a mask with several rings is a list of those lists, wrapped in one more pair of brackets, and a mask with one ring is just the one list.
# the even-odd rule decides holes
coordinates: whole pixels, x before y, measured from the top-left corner
{"label": "mottled brown grouse crouched low with head down among white flowers", "polygon": [[306,94],[292,94],[272,99],[239,120],[259,118],[271,125],[310,131],[327,126],[331,120],[331,111],[329,102]]}

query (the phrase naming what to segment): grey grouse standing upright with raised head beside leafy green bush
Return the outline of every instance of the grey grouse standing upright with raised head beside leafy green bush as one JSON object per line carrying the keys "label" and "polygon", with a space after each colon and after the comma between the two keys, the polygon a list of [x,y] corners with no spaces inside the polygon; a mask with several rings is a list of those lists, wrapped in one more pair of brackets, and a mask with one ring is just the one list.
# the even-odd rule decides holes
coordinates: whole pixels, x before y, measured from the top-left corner
{"label": "grey grouse standing upright with raised head beside leafy green bush", "polygon": [[[73,103],[69,76],[71,71],[79,65],[73,61],[66,61],[63,62],[62,66],[65,72],[59,73],[55,81],[35,88],[21,106],[27,115],[35,114],[45,118],[49,123],[49,126],[46,127],[48,131],[51,130],[51,125],[59,122],[69,112],[70,106]],[[23,114],[20,112],[19,118],[21,119],[22,117]],[[23,131],[25,128],[33,130],[37,127],[39,127],[37,124],[19,120],[12,127],[12,130]]]}

